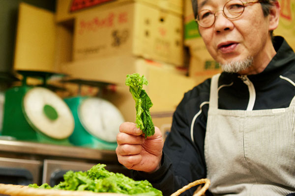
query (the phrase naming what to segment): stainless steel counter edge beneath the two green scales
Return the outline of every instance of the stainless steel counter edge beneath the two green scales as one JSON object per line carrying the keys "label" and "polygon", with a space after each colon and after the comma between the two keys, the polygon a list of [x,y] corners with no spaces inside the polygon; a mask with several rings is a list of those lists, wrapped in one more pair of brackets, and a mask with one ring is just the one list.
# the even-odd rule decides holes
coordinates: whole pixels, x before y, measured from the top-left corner
{"label": "stainless steel counter edge beneath the two green scales", "polygon": [[77,159],[118,161],[113,150],[101,150],[84,147],[59,146],[33,142],[0,140],[0,152],[25,153],[32,155],[69,157]]}

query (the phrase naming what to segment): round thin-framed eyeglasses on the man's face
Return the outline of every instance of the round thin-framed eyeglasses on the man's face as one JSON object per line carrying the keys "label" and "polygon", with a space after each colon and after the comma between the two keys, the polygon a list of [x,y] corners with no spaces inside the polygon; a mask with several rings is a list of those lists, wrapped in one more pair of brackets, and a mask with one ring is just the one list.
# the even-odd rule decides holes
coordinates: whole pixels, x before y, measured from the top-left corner
{"label": "round thin-framed eyeglasses on the man's face", "polygon": [[[252,1],[252,2],[243,2],[241,0],[229,0],[225,3],[222,12],[226,18],[235,19],[239,17],[240,15],[242,15],[245,9],[245,4],[258,3],[258,2],[261,2],[261,0]],[[198,12],[196,21],[198,22],[200,26],[204,28],[211,27],[215,23],[216,12],[214,13],[208,9],[201,10],[200,12]]]}

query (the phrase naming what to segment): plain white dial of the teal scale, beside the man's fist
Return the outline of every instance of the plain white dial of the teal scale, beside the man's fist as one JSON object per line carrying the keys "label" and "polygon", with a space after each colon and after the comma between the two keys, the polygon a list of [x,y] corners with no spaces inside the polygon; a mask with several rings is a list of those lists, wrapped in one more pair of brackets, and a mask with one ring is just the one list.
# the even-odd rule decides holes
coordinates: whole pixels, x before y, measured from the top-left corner
{"label": "plain white dial of the teal scale, beside the man's fist", "polygon": [[78,116],[89,134],[103,141],[116,142],[124,118],[118,108],[102,98],[86,98],[78,108]]}

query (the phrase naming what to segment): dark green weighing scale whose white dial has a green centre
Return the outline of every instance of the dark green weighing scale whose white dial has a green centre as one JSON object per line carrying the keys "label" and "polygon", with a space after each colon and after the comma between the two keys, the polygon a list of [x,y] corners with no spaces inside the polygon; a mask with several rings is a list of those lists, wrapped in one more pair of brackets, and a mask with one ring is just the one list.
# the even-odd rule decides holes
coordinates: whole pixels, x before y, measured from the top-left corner
{"label": "dark green weighing scale whose white dial has a green centre", "polygon": [[[46,81],[58,73],[18,71],[22,85],[5,92],[2,136],[16,140],[71,145],[74,118],[68,105],[46,88]],[[27,77],[43,79],[42,86],[27,85]]]}

